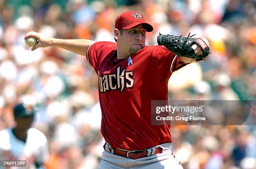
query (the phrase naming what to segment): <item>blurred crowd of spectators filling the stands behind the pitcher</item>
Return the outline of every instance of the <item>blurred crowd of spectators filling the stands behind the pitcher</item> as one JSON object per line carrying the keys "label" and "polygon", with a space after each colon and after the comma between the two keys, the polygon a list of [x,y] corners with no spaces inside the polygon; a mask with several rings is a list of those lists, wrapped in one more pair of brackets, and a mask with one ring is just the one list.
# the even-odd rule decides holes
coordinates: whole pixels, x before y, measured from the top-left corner
{"label": "blurred crowd of spectators filling the stands behind the pitcher", "polygon": [[[128,10],[154,26],[146,45],[156,45],[159,32],[210,41],[206,61],[173,73],[170,100],[255,100],[255,0],[0,0],[0,130],[15,125],[16,103],[35,105],[34,126],[49,141],[48,169],[97,168],[104,144],[97,75],[84,56],[51,47],[32,52],[24,34],[114,42],[115,18]],[[170,131],[185,169],[256,168],[255,125]]]}

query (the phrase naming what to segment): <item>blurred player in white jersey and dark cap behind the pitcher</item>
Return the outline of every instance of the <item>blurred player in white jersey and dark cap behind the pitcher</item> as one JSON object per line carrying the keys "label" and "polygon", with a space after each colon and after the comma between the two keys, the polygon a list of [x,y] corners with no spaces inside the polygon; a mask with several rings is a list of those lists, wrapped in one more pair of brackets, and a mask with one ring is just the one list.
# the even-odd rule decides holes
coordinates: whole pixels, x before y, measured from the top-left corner
{"label": "blurred player in white jersey and dark cap behind the pitcher", "polygon": [[[24,166],[29,169],[44,167],[49,155],[48,143],[41,131],[31,128],[35,115],[35,108],[31,104],[15,105],[13,108],[15,127],[0,130],[1,160],[26,160]],[[4,167],[0,166],[0,168]]]}

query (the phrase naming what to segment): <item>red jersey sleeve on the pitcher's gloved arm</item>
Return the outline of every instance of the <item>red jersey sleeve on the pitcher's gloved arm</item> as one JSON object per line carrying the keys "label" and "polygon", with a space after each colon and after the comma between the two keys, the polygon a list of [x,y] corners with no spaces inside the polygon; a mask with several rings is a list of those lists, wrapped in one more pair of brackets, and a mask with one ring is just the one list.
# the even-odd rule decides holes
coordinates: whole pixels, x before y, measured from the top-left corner
{"label": "red jersey sleeve on the pitcher's gloved arm", "polygon": [[152,67],[162,81],[168,81],[174,71],[189,63],[179,61],[179,56],[172,53],[164,46],[156,45],[152,51]]}

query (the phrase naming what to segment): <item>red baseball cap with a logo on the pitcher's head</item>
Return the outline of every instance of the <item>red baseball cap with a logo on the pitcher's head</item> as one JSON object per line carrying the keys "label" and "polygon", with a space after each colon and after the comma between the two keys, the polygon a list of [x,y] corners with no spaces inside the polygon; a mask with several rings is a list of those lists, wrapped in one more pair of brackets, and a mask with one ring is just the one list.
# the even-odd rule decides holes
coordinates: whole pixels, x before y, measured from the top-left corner
{"label": "red baseball cap with a logo on the pitcher's head", "polygon": [[153,31],[153,26],[146,23],[146,19],[140,13],[136,11],[124,12],[115,19],[115,28],[120,29],[131,29],[136,25],[143,24],[146,26],[147,32]]}

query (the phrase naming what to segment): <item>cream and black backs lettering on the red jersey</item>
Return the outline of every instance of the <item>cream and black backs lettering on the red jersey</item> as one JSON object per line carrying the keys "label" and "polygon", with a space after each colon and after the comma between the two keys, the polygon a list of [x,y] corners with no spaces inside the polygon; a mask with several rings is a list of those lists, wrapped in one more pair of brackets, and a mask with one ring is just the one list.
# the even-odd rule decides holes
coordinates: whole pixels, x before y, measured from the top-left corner
{"label": "cream and black backs lettering on the red jersey", "polygon": [[134,85],[133,71],[126,71],[127,68],[120,70],[121,66],[116,69],[115,73],[100,76],[98,71],[100,92],[120,90],[122,93],[125,88],[131,88]]}

